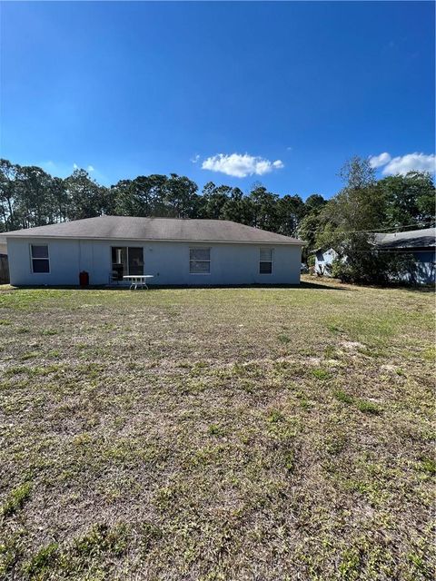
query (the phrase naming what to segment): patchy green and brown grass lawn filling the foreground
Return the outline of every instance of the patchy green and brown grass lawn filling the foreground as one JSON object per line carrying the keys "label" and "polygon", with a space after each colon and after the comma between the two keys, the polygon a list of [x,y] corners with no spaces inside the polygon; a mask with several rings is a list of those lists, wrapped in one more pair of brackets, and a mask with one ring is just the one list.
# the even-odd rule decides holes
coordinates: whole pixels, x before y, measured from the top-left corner
{"label": "patchy green and brown grass lawn filling the foreground", "polygon": [[4,287],[0,578],[432,579],[434,295],[315,282]]}

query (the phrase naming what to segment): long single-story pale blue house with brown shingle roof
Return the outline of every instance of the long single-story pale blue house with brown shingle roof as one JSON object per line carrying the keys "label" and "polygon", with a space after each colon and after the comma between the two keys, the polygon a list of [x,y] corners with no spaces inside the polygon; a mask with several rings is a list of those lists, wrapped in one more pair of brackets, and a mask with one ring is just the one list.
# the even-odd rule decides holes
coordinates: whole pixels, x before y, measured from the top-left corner
{"label": "long single-story pale blue house with brown shingle roof", "polygon": [[101,216],[6,234],[11,284],[298,284],[304,242],[221,220]]}

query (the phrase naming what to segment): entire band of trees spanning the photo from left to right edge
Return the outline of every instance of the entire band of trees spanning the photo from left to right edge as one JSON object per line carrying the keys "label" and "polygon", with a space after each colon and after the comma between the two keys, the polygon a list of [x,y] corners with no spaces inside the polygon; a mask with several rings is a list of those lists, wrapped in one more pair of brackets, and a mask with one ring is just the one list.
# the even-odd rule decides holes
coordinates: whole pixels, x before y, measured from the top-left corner
{"label": "entire band of trees spanning the photo from left to right edge", "polygon": [[[105,187],[83,169],[62,179],[37,166],[0,160],[0,231],[104,214],[232,220],[302,238],[307,241],[304,258],[317,247],[332,247],[349,257],[348,264],[355,261],[356,272],[362,274],[382,270],[368,262],[375,257],[371,232],[434,225],[435,187],[430,173],[377,180],[368,160],[353,157],[340,175],[342,189],[330,200],[313,193],[303,202],[298,194],[269,192],[259,182],[246,193],[213,182],[199,192],[186,176],[170,173],[142,175]],[[349,279],[362,277],[356,274]]]}

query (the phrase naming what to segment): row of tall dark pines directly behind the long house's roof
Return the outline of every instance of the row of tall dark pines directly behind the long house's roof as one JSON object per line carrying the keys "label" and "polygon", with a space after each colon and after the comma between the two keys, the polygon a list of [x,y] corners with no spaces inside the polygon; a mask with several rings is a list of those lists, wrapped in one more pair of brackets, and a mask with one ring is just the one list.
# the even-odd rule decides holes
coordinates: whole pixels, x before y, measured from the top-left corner
{"label": "row of tall dark pines directly behind the long house's roof", "polygon": [[0,231],[110,214],[232,220],[292,236],[302,218],[325,202],[319,194],[306,202],[299,195],[280,196],[261,183],[244,193],[208,182],[200,193],[195,182],[176,173],[105,187],[83,169],[61,179],[37,166],[0,161]]}

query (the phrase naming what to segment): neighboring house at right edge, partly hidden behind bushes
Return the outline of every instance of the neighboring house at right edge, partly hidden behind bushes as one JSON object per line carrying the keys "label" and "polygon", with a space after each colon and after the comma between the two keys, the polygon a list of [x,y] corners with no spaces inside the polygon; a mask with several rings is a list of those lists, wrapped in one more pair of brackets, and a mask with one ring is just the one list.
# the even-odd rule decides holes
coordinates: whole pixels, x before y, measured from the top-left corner
{"label": "neighboring house at right edge, partly hidden behind bushes", "polygon": [[[401,281],[432,284],[436,277],[436,229],[423,228],[394,233],[376,233],[373,237],[374,251],[411,253],[413,268],[401,275]],[[338,256],[332,248],[315,251],[315,271],[324,276],[332,276],[332,262]]]}

